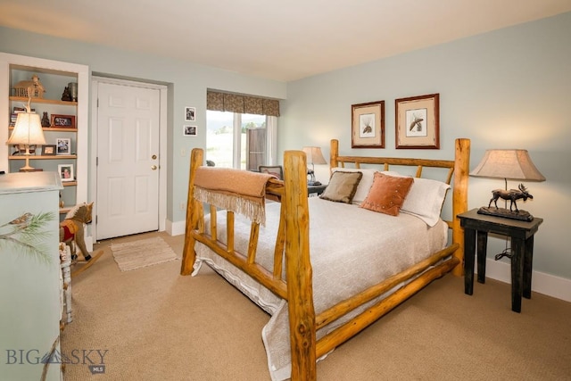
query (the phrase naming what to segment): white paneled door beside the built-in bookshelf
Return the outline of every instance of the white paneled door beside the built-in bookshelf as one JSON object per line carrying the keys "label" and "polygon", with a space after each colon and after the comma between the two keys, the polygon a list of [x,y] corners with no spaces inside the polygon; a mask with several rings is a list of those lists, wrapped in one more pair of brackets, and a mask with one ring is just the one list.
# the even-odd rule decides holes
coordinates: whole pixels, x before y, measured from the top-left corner
{"label": "white paneled door beside the built-in bookshelf", "polygon": [[159,228],[160,91],[98,83],[96,239]]}

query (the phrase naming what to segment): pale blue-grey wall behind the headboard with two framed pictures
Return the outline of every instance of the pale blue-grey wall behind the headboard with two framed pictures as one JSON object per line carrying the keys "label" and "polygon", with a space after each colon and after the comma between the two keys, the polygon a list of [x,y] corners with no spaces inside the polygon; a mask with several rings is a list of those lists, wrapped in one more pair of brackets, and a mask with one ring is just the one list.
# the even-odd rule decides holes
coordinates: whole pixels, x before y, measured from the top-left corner
{"label": "pale blue-grey wall behind the headboard with two framed pictures", "polygon": [[[571,13],[565,13],[288,83],[279,151],[320,145],[328,157],[329,139],[337,138],[342,153],[446,159],[454,155],[455,138],[469,137],[474,169],[486,149],[526,149],[547,178],[527,183],[534,200],[518,203],[544,219],[534,269],[571,279],[569,37]],[[432,93],[440,94],[441,149],[395,150],[394,99]],[[352,151],[351,105],[379,100],[385,100],[386,148]],[[326,166],[318,178],[327,182]],[[468,206],[487,206],[490,190],[503,186],[503,180],[471,178]],[[492,238],[488,253],[504,247],[503,238]]]}

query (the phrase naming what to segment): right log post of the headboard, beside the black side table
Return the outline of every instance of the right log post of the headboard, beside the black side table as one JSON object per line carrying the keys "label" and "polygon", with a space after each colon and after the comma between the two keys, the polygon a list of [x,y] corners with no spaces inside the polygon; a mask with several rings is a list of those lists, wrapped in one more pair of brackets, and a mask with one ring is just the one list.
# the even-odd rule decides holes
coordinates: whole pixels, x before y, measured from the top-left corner
{"label": "right log post of the headboard, beside the black side table", "polygon": [[452,255],[459,259],[459,265],[452,274],[461,277],[464,274],[464,229],[456,218],[459,213],[468,210],[468,176],[470,170],[470,139],[456,139],[456,155],[454,164],[454,186],[452,203],[452,242],[459,244],[459,248]]}

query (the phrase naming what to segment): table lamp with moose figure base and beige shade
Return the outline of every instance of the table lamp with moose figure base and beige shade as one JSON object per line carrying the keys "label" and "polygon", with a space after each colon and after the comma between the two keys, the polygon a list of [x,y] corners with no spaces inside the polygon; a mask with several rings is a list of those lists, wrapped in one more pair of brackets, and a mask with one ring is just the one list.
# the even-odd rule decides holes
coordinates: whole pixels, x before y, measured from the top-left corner
{"label": "table lamp with moose figure base and beige shade", "polygon": [[[534,196],[529,194],[524,184],[520,183],[518,189],[508,190],[508,178],[513,180],[545,181],[542,173],[535,168],[534,162],[532,162],[526,150],[487,150],[482,162],[470,172],[470,176],[503,178],[505,183],[504,189],[492,190],[490,203],[487,207],[481,207],[478,213],[525,221],[534,219],[528,211],[517,209],[517,200],[534,199]],[[498,208],[497,202],[500,198],[505,200],[505,208]],[[508,201],[510,202],[509,209],[507,208]],[[492,203],[494,203],[494,207],[492,207]]]}

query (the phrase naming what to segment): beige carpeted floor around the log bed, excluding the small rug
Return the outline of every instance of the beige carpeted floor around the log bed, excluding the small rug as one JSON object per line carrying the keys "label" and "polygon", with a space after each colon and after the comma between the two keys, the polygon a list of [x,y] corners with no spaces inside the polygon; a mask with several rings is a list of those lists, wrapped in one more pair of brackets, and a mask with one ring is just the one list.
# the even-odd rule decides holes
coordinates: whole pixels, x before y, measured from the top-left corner
{"label": "beige carpeted floor around the log bed, excluding the small rug", "polygon": [[[203,266],[181,277],[179,260],[120,271],[110,245],[153,236],[180,257],[183,236],[128,236],[96,245],[103,257],[73,278],[62,352],[76,356],[64,380],[269,380],[261,342],[269,317],[217,274]],[[468,296],[463,279],[447,275],[320,361],[318,377],[569,379],[570,318],[571,303],[534,293],[517,314],[509,285],[488,279]],[[92,374],[100,353],[104,373]]]}

